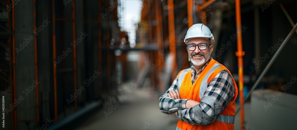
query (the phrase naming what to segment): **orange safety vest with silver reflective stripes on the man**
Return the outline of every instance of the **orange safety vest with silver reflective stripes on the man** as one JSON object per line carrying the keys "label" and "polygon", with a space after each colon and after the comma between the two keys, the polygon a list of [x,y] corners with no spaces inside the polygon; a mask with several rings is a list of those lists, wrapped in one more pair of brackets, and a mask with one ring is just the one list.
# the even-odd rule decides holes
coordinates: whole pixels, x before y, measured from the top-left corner
{"label": "orange safety vest with silver reflective stripes on the man", "polygon": [[[214,79],[215,76],[219,74],[220,71],[227,70],[230,71],[222,64],[212,59],[208,65],[200,73],[194,84],[192,84],[191,76],[192,73],[190,68],[184,69],[178,73],[178,90],[181,99],[191,99],[201,102],[201,99],[206,92],[207,84]],[[230,73],[231,75],[231,73]],[[232,75],[231,75],[232,77]],[[234,117],[235,117],[235,98],[237,97],[237,85],[232,77],[233,83],[235,85],[236,92],[234,94],[233,101],[221,112],[217,120],[210,125],[203,126],[197,125],[193,126],[186,122],[178,120],[176,130],[233,130],[234,129]]]}

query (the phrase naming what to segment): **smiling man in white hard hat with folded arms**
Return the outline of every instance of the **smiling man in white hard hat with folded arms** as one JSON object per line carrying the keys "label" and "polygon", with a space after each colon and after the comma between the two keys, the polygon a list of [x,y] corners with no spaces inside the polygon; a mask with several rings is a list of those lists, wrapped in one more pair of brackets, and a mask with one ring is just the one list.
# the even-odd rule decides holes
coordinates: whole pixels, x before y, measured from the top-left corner
{"label": "smiling man in white hard hat with folded arms", "polygon": [[161,112],[177,116],[176,130],[234,129],[237,86],[230,71],[211,57],[210,29],[194,24],[184,42],[193,65],[159,98]]}

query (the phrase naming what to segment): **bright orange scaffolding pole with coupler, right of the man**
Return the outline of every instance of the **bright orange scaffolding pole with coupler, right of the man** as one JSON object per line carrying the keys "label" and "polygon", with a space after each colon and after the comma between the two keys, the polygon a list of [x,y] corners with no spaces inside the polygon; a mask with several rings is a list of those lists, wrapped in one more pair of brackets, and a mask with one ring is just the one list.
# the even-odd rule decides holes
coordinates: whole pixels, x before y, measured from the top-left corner
{"label": "bright orange scaffolding pole with coupler, right of the man", "polygon": [[240,126],[241,130],[244,130],[244,95],[243,95],[243,56],[242,51],[242,35],[241,35],[241,11],[240,11],[240,0],[235,1],[236,10],[236,33],[237,33],[237,51],[236,56],[238,57],[238,84],[239,84],[239,95],[240,95]]}

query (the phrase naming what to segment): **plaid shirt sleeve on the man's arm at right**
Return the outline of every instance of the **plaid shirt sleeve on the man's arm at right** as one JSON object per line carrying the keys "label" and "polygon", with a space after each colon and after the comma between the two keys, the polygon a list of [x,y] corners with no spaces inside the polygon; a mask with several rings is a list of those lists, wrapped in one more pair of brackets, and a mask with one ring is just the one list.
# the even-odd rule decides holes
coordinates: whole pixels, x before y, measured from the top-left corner
{"label": "plaid shirt sleeve on the man's arm at right", "polygon": [[179,120],[191,125],[209,125],[234,100],[235,84],[227,70],[220,71],[207,86],[200,104],[190,109],[178,110]]}

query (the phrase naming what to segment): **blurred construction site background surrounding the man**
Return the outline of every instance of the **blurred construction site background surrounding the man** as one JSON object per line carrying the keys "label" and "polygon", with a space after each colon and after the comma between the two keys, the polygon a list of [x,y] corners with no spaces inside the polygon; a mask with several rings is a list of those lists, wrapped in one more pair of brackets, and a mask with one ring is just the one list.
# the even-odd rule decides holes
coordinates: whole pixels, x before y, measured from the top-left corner
{"label": "blurred construction site background surrounding the man", "polygon": [[1,130],[175,129],[158,100],[192,65],[196,23],[237,85],[242,37],[235,129],[296,129],[296,4],[241,0],[238,31],[235,0],[0,0]]}

